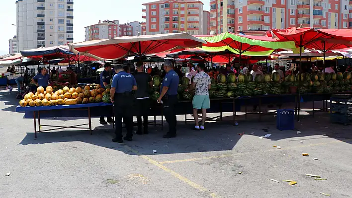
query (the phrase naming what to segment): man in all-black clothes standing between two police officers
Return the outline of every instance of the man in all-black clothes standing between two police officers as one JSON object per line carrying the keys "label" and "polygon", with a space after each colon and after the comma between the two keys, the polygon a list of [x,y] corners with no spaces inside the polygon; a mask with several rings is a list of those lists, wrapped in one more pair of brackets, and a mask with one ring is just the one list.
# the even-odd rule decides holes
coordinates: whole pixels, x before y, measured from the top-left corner
{"label": "man in all-black clothes standing between two police officers", "polygon": [[[137,109],[137,127],[136,134],[148,134],[148,111],[149,105],[149,90],[153,87],[153,80],[148,73],[143,72],[143,63],[137,63],[137,73],[134,74],[138,89],[134,93],[136,98]],[[143,132],[142,132],[142,116],[143,116]]]}

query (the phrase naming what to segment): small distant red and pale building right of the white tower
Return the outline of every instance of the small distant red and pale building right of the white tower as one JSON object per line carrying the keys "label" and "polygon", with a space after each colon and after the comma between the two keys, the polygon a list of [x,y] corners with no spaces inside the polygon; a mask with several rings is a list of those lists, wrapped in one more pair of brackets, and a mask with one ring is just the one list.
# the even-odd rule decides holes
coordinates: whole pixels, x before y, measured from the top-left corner
{"label": "small distant red and pale building right of the white tower", "polygon": [[86,27],[86,41],[110,39],[119,36],[119,21],[104,20]]}

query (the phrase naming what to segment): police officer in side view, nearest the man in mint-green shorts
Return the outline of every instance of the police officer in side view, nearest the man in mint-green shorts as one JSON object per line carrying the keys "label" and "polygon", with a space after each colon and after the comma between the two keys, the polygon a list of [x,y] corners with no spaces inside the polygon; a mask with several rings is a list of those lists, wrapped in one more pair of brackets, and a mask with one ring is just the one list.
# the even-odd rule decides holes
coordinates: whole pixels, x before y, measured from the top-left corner
{"label": "police officer in side view, nearest the man in mint-green shorts", "polygon": [[160,90],[160,97],[158,102],[163,100],[163,111],[165,119],[169,124],[169,132],[165,134],[164,138],[176,137],[176,104],[177,104],[177,87],[179,77],[174,71],[173,62],[166,60],[164,63],[164,70],[167,74],[164,77],[163,85]]}

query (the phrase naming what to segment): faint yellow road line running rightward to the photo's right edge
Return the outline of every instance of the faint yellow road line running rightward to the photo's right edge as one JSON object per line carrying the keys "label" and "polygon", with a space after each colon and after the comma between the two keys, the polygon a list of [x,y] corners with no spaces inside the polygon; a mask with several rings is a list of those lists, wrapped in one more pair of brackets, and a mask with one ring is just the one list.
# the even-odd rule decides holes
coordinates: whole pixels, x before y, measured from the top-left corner
{"label": "faint yellow road line running rightward to the photo's right edge", "polygon": [[322,143],[316,143],[316,144],[305,144],[305,145],[299,145],[299,146],[284,147],[284,148],[281,148],[281,149],[273,148],[273,149],[263,150],[263,151],[250,151],[250,152],[232,153],[232,154],[225,154],[225,155],[214,155],[214,156],[207,156],[207,157],[197,157],[197,158],[179,159],[179,160],[172,160],[172,161],[162,161],[162,162],[159,162],[159,164],[172,164],[172,163],[177,163],[177,162],[200,161],[200,160],[205,160],[205,159],[232,157],[232,156],[236,156],[236,155],[258,153],[258,152],[269,152],[269,151],[274,151],[274,150],[286,150],[286,149],[292,149],[292,148],[303,148],[303,147],[308,147],[308,146],[318,146],[318,145],[325,145],[325,144],[330,144],[330,143],[338,143],[338,142],[346,142],[346,141],[351,141],[351,139],[335,140],[335,141],[322,142]]}

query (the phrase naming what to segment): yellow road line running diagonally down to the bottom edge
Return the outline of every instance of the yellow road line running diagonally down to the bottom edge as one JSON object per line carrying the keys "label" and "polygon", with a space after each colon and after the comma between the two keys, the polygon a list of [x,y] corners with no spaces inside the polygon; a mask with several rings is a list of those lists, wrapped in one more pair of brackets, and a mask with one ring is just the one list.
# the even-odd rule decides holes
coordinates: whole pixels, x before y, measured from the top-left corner
{"label": "yellow road line running diagonally down to the bottom edge", "polygon": [[165,167],[164,165],[160,164],[159,162],[153,160],[152,158],[146,156],[146,155],[143,155],[142,153],[138,152],[137,150],[131,148],[130,146],[128,145],[124,145],[126,149],[132,151],[133,153],[135,153],[136,155],[142,157],[143,159],[147,160],[149,163],[151,164],[154,164],[155,166],[159,167],[160,169],[164,170],[165,172],[168,172],[170,173],[171,175],[173,175],[174,177],[176,177],[177,179],[181,180],[182,182],[188,184],[189,186],[197,189],[198,191],[201,191],[201,192],[205,192],[205,193],[208,193],[212,198],[221,198],[219,195],[215,194],[215,193],[212,193],[211,191],[209,191],[208,189],[200,186],[199,184],[196,184],[192,181],[190,181],[189,179],[183,177],[182,175],[176,173],[175,171]]}

